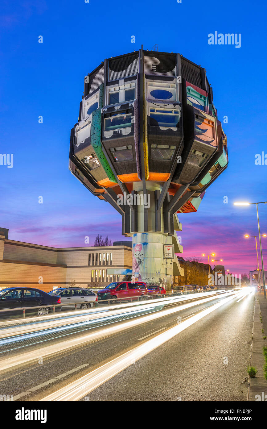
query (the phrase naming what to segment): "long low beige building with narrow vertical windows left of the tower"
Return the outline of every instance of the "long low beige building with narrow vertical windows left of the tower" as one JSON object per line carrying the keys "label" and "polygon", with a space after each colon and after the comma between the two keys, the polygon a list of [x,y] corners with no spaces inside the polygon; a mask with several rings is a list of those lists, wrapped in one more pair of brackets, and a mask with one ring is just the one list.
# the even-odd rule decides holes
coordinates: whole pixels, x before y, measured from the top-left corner
{"label": "long low beige building with narrow vertical windows left of the tower", "polygon": [[126,243],[54,248],[9,240],[6,231],[0,230],[1,289],[28,286],[49,292],[68,284],[100,288],[132,271],[132,248]]}

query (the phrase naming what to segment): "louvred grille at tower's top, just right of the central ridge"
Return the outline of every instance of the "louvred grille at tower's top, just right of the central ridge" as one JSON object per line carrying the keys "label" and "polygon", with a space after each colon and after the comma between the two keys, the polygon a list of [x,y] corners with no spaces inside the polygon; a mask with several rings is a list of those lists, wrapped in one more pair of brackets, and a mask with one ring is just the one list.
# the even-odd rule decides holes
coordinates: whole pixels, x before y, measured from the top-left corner
{"label": "louvred grille at tower's top, just right of the central ridge", "polygon": [[154,75],[176,76],[176,57],[173,55],[151,54],[144,55],[144,72]]}

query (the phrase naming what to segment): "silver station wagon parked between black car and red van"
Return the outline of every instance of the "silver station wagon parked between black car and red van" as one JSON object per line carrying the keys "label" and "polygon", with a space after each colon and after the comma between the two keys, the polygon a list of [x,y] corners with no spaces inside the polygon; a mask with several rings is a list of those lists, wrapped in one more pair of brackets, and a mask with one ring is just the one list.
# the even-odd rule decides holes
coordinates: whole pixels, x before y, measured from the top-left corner
{"label": "silver station wagon parked between black car and red van", "polygon": [[59,295],[64,308],[81,308],[81,310],[88,310],[93,305],[93,302],[98,301],[98,296],[93,290],[81,287],[59,287],[58,289],[48,292],[49,295]]}

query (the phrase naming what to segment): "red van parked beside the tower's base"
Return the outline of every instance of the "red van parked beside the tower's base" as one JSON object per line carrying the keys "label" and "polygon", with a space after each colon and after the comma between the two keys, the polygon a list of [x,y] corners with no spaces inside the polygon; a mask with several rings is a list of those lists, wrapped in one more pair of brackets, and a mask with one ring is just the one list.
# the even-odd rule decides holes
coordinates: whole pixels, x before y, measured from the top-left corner
{"label": "red van parked beside the tower's base", "polygon": [[115,281],[108,284],[104,289],[97,292],[98,300],[110,299],[112,304],[117,302],[117,298],[124,301],[144,301],[147,299],[147,285],[141,281],[132,283],[130,281]]}

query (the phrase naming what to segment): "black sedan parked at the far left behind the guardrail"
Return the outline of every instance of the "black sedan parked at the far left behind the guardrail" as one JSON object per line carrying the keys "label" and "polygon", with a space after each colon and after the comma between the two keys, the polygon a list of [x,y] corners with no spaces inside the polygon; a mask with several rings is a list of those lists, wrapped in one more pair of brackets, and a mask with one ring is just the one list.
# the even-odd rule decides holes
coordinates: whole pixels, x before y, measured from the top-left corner
{"label": "black sedan parked at the far left behind the guardrail", "polygon": [[[34,313],[39,316],[47,316],[52,311],[51,305],[61,304],[60,296],[51,296],[40,289],[33,287],[7,287],[0,290],[0,310],[8,308],[21,308],[25,307],[26,314]],[[37,307],[27,310],[27,307]],[[60,311],[61,306],[55,307],[55,311]],[[0,311],[0,319],[3,319],[7,314],[21,315],[22,310]]]}

